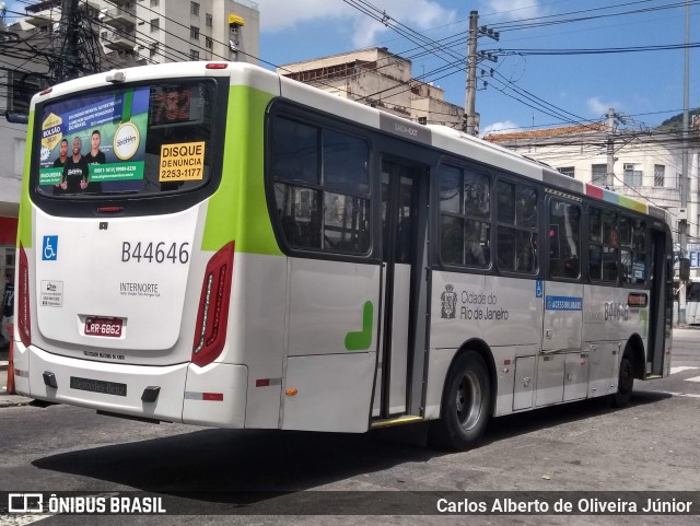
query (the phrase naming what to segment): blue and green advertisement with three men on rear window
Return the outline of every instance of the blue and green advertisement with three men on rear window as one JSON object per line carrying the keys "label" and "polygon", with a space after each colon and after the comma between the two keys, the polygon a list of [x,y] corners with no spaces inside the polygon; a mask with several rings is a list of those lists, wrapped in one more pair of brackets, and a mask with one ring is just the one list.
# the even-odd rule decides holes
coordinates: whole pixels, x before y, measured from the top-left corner
{"label": "blue and green advertisement with three men on rear window", "polygon": [[39,150],[42,190],[60,195],[138,188],[148,109],[148,87],[47,104]]}

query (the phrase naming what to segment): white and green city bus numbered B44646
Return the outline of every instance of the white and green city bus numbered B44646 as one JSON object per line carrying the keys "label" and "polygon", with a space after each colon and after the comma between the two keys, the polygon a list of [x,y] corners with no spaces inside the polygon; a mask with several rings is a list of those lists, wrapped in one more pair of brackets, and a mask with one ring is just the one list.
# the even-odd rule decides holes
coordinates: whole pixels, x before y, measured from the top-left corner
{"label": "white and green city bus numbered B44646", "polygon": [[15,386],[151,421],[361,433],[668,374],[667,213],[243,63],[31,106]]}

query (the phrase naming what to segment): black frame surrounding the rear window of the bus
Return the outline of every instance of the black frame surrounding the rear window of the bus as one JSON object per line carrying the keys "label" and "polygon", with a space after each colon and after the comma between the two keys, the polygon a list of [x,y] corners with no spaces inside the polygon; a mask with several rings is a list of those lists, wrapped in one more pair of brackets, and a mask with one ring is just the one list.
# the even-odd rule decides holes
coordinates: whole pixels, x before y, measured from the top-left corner
{"label": "black frame surrounding the rear window of the bus", "polygon": [[[118,84],[119,89],[150,87],[159,83],[182,82],[179,78],[150,79]],[[35,160],[39,159],[42,147],[40,119],[47,104],[55,104],[63,100],[77,96],[93,95],[101,92],[114,90],[114,85],[101,85],[88,90],[75,91],[60,97],[48,98],[36,104],[34,108],[34,133],[32,137],[32,152],[30,164],[28,194],[30,200],[39,210],[50,214],[66,218],[94,218],[102,207],[109,207],[118,203],[122,207],[119,212],[112,213],[110,217],[145,217],[174,213],[191,208],[207,198],[211,197],[220,187],[223,177],[224,147],[226,133],[226,119],[229,115],[229,83],[226,78],[217,77],[192,77],[187,78],[188,82],[213,82],[214,84],[214,108],[213,126],[211,127],[211,165],[209,167],[210,177],[203,185],[188,190],[168,190],[163,192],[152,192],[143,195],[133,194],[112,194],[104,196],[77,196],[61,197],[42,194],[38,190],[39,166]],[[150,108],[149,108],[150,110]],[[224,117],[222,117],[224,116]],[[182,125],[178,125],[182,126]]]}

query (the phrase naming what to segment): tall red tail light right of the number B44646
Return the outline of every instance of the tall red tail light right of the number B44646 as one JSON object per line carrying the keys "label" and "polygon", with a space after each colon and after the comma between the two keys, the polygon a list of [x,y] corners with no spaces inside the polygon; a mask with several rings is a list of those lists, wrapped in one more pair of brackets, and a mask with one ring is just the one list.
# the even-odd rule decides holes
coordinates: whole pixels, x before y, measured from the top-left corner
{"label": "tall red tail light right of the number B44646", "polygon": [[233,253],[231,242],[214,254],[207,265],[192,344],[192,363],[200,367],[213,362],[226,341]]}

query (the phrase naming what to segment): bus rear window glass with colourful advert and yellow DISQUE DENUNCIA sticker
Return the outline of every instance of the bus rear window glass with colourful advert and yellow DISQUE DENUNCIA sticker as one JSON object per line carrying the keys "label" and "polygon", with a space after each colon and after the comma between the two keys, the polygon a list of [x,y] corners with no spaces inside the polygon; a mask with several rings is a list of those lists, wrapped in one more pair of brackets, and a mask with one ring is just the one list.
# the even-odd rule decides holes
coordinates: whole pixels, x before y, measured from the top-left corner
{"label": "bus rear window glass with colourful advert and yellow DISQUE DENUNCIA sticker", "polygon": [[37,190],[74,199],[203,186],[215,92],[210,80],[159,82],[47,103],[37,112]]}

